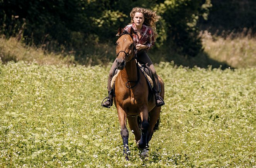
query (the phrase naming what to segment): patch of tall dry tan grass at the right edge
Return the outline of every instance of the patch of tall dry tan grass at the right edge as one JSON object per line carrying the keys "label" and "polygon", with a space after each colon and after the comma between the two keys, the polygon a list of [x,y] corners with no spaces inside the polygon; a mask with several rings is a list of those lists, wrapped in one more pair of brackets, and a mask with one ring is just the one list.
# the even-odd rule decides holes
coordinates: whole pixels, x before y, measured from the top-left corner
{"label": "patch of tall dry tan grass at the right edge", "polygon": [[224,37],[201,32],[204,51],[209,58],[225,62],[233,68],[256,67],[256,38],[251,33],[231,32]]}

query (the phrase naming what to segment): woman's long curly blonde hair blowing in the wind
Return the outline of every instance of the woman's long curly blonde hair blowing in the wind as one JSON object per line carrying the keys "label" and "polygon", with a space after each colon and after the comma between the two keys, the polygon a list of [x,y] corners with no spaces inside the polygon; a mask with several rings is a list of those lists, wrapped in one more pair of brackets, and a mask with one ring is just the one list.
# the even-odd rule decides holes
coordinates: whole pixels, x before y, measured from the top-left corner
{"label": "woman's long curly blonde hair blowing in the wind", "polygon": [[131,17],[131,23],[133,22],[133,18],[136,12],[142,13],[144,16],[144,22],[143,24],[146,26],[149,26],[153,29],[154,32],[154,36],[157,36],[156,33],[156,22],[159,20],[160,16],[158,16],[156,14],[156,11],[150,10],[150,9],[146,9],[146,8],[141,8],[141,7],[135,7],[132,8],[132,11],[130,13],[130,17]]}

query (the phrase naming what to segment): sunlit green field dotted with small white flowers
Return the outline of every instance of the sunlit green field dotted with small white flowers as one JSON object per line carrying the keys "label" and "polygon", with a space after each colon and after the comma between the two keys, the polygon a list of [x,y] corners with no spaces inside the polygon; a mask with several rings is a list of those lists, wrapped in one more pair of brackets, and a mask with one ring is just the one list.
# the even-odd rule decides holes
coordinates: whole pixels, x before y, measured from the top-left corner
{"label": "sunlit green field dotted with small white flowers", "polygon": [[256,68],[156,65],[160,129],[142,160],[122,156],[107,67],[0,64],[0,167],[256,167]]}

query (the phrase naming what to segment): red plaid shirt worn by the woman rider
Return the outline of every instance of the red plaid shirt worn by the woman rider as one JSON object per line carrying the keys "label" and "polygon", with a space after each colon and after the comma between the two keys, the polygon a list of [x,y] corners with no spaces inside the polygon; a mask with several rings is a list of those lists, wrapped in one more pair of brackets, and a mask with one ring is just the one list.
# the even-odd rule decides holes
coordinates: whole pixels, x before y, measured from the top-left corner
{"label": "red plaid shirt worn by the woman rider", "polygon": [[[134,23],[131,25],[127,25],[124,28],[124,30],[129,32],[131,28],[133,28],[134,32],[136,32],[136,27]],[[136,44],[146,45],[147,46],[146,49],[149,50],[155,44],[153,30],[150,27],[147,27],[146,25],[142,24],[141,38],[139,38],[138,34],[136,33],[135,35],[133,35],[133,42],[134,42],[134,45]]]}

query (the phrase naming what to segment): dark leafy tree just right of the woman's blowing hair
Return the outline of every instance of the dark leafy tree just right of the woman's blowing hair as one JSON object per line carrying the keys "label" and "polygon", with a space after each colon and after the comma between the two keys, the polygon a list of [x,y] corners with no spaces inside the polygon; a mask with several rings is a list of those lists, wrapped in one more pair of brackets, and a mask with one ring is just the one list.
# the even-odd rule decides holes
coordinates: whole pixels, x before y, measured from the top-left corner
{"label": "dark leafy tree just right of the woman's blowing hair", "polygon": [[161,22],[165,23],[161,37],[167,40],[170,48],[176,48],[178,53],[197,55],[202,49],[197,22],[201,16],[207,19],[210,7],[210,0],[204,3],[202,0],[166,0],[160,3],[154,9],[162,17]]}

